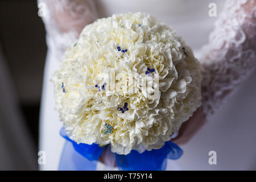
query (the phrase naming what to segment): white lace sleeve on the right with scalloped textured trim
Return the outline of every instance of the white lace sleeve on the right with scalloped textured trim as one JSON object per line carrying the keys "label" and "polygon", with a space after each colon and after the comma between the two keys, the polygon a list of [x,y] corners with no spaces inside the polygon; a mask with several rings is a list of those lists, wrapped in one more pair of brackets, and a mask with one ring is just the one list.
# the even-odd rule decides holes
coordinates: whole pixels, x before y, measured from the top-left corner
{"label": "white lace sleeve on the right with scalloped textured trim", "polygon": [[202,48],[202,107],[207,118],[256,67],[256,1],[229,0]]}

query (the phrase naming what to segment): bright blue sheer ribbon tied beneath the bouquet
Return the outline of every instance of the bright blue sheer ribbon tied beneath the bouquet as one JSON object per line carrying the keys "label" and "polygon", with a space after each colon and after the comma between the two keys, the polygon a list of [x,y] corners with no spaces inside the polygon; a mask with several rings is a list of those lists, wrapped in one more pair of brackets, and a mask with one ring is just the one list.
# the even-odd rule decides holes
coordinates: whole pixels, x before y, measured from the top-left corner
{"label": "bright blue sheer ribbon tied beneath the bouquet", "polygon": [[[60,159],[59,170],[95,170],[98,159],[104,147],[98,144],[77,144],[65,133],[64,127],[60,130],[60,135],[67,141],[65,142],[63,153]],[[167,159],[176,160],[181,157],[183,150],[175,143],[166,142],[158,150],[144,151],[140,154],[137,150],[132,150],[128,155],[115,154],[115,161],[119,170],[131,171],[156,171],[165,170]]]}

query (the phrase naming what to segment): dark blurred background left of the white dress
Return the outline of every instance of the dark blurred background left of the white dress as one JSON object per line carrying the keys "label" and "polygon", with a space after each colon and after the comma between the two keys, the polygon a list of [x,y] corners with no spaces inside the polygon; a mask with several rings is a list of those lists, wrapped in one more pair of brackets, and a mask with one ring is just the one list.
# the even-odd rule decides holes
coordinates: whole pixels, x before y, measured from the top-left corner
{"label": "dark blurred background left of the white dress", "polygon": [[[37,14],[36,1],[0,1],[0,170],[38,168],[39,110],[47,47],[44,25]],[[20,144],[27,145],[22,147],[27,149],[16,151]]]}

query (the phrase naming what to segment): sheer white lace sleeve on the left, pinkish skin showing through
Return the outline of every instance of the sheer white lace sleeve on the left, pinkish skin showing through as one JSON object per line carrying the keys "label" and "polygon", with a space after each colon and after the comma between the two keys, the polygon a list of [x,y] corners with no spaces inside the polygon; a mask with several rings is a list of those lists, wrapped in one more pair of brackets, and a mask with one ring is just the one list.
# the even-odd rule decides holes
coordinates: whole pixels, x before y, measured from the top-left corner
{"label": "sheer white lace sleeve on the left, pinkish skin showing through", "polygon": [[48,50],[61,60],[63,52],[76,41],[82,28],[97,19],[92,0],[38,0],[47,32]]}

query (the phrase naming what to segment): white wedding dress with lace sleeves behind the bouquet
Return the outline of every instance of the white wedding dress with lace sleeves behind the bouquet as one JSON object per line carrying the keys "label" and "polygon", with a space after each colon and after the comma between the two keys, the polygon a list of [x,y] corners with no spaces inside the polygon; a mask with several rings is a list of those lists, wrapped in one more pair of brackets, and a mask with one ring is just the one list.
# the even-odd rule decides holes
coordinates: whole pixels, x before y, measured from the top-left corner
{"label": "white wedding dress with lace sleeves behind the bouquet", "polygon": [[[225,6],[222,0],[40,0],[40,3],[46,5],[43,20],[48,45],[39,141],[39,150],[46,151],[46,164],[40,169],[58,169],[65,142],[59,135],[62,123],[55,110],[50,82],[63,51],[75,42],[85,24],[129,11],[152,14],[170,24],[203,63],[203,109],[208,122],[181,146],[184,155],[179,160],[168,161],[167,170],[256,169],[255,1],[228,1]],[[210,3],[216,4],[217,17],[209,16]],[[237,92],[232,92],[238,86]],[[232,97],[222,102],[230,92]],[[216,165],[208,163],[209,151],[217,152]],[[106,168],[99,162],[98,169],[116,168]]]}

